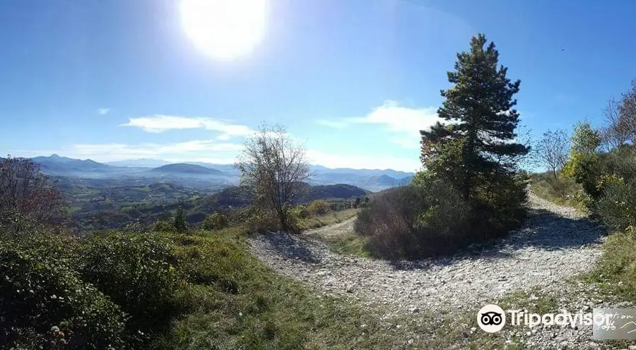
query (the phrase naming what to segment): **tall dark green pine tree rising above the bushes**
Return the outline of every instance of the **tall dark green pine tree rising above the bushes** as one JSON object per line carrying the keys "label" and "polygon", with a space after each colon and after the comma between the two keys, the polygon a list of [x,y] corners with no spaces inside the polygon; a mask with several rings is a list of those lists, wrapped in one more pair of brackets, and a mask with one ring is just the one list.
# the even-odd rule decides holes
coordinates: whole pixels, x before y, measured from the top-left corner
{"label": "tall dark green pine tree rising above the bushes", "polygon": [[478,188],[489,191],[507,182],[518,157],[529,151],[514,143],[519,112],[513,96],[520,81],[511,82],[507,68],[497,66],[495,44],[485,45],[485,35],[473,37],[470,52],[457,54],[454,71],[448,72],[454,85],[442,90],[445,101],[437,115],[450,123],[420,131],[424,166],[451,181],[466,199]]}

